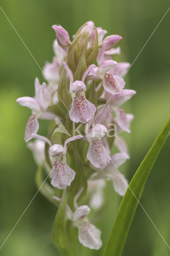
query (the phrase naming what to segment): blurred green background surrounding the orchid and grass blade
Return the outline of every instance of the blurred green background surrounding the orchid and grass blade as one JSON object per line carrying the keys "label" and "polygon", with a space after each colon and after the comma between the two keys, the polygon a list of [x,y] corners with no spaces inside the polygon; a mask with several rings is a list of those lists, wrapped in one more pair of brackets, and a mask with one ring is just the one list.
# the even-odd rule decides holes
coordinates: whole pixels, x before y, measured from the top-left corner
{"label": "blurred green background surrounding the orchid and grass blade", "polygon": [[[42,68],[51,62],[55,39],[53,24],[61,24],[71,35],[93,20],[109,34],[123,40],[118,61],[132,63],[168,10],[169,1],[154,0],[1,0],[0,6]],[[137,94],[124,109],[135,118],[131,134],[125,134],[131,159],[121,168],[128,180],[136,171],[154,138],[166,122],[170,109],[170,13],[166,14],[146,47],[125,77],[126,88]],[[34,79],[43,82],[40,68],[0,10],[0,244],[4,242],[37,192],[36,164],[24,142],[30,110],[16,98],[34,96]],[[45,132],[45,123],[42,132]],[[166,240],[169,230],[170,138],[166,141],[146,182],[141,204]],[[111,190],[111,204],[97,223],[105,245],[121,197]],[[56,208],[40,193],[0,250],[2,256],[59,255],[51,243]],[[101,249],[101,251],[103,248]],[[101,255],[83,249],[81,255]],[[136,211],[123,256],[166,256],[169,250],[140,206]]]}

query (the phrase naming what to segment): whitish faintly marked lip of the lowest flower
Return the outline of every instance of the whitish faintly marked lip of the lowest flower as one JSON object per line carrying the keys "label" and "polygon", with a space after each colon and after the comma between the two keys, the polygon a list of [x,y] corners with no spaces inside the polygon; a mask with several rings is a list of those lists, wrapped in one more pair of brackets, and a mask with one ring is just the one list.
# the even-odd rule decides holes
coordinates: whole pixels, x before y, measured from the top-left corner
{"label": "whitish faintly marked lip of the lowest flower", "polygon": [[79,226],[79,241],[83,246],[99,250],[102,246],[101,231],[89,222]]}

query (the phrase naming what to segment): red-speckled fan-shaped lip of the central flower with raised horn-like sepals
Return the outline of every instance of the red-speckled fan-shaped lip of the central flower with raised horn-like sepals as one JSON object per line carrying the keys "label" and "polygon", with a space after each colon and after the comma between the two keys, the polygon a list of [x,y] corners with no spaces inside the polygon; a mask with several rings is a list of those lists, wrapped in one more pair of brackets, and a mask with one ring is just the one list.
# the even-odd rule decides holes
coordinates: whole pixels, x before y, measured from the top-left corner
{"label": "red-speckled fan-shaped lip of the central flower with raised horn-like sepals", "polygon": [[95,115],[95,105],[89,102],[89,100],[85,98],[85,95],[72,98],[73,101],[69,112],[70,119],[75,123],[81,122],[86,124]]}

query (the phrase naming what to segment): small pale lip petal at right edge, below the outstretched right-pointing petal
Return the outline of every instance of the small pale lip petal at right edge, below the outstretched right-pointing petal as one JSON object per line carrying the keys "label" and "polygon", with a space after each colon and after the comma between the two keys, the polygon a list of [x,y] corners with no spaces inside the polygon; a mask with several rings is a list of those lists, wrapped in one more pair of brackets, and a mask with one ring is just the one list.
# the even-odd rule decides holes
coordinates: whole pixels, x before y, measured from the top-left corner
{"label": "small pale lip petal at right edge, below the outstretched right-pointing petal", "polygon": [[130,121],[134,118],[133,114],[126,114],[122,108],[116,111],[115,121],[125,132],[130,133]]}

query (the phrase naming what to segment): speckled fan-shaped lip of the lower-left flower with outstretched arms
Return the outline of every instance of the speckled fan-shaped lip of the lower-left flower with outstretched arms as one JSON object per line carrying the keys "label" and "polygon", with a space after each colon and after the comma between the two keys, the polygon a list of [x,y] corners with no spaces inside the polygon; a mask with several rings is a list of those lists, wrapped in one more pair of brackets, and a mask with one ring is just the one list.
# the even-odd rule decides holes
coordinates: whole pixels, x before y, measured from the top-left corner
{"label": "speckled fan-shaped lip of the lower-left flower with outstretched arms", "polygon": [[53,169],[49,176],[52,178],[51,185],[65,189],[67,186],[70,186],[71,182],[74,180],[75,171],[65,162],[58,161],[54,162]]}

